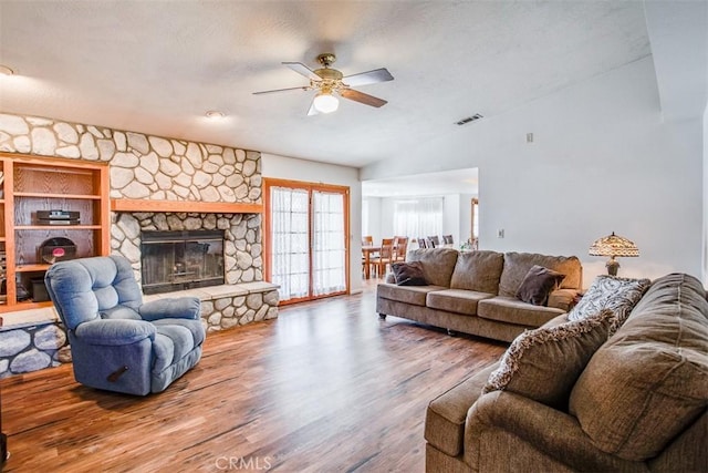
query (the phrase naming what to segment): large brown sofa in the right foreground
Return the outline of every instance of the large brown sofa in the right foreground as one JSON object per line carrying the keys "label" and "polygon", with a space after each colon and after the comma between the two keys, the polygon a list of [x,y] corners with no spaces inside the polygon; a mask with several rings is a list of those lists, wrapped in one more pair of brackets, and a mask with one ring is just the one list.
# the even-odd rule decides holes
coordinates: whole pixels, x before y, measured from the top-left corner
{"label": "large brown sofa in the right foreground", "polygon": [[[566,321],[560,316],[546,327]],[[509,388],[482,394],[499,363],[433,400],[426,471],[708,471],[708,301],[700,281],[679,274],[655,280],[597,346],[569,379],[555,377],[572,362],[566,349],[544,352],[545,371],[525,366],[533,385],[568,384],[559,405]]]}

